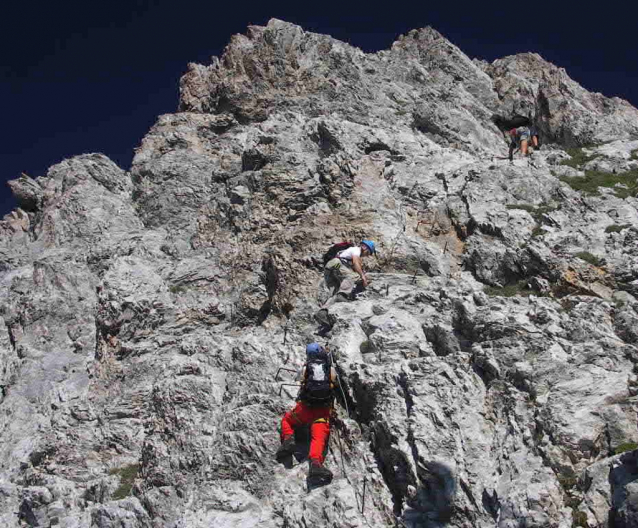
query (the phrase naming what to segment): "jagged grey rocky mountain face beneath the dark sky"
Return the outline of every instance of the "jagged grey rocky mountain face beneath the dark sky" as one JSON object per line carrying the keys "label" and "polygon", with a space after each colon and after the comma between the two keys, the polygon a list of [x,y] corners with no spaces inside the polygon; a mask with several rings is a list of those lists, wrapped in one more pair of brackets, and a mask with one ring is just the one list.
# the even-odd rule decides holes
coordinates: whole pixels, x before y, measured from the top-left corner
{"label": "jagged grey rocky mountain face beneath the dark sky", "polygon": [[[638,525],[638,110],[533,53],[279,20],[180,93],[130,171],[10,183],[2,526]],[[513,111],[544,145],[510,163]],[[362,237],[322,329],[321,255]],[[317,489],[274,460],[310,341],[343,386]]]}

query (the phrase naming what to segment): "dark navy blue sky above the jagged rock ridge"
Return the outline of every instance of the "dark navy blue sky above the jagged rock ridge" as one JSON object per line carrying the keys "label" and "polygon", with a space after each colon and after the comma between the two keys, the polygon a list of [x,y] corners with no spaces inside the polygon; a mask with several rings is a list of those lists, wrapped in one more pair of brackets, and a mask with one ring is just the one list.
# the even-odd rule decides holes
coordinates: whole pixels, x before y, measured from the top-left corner
{"label": "dark navy blue sky above the jagged rock ridge", "polygon": [[[471,57],[534,51],[585,88],[638,106],[634,2],[11,2],[0,21],[0,215],[4,184],[103,152],[128,169],[158,115],[173,112],[188,62],[208,63],[233,33],[276,17],[364,51],[431,25]],[[590,8],[588,6],[595,6]]]}

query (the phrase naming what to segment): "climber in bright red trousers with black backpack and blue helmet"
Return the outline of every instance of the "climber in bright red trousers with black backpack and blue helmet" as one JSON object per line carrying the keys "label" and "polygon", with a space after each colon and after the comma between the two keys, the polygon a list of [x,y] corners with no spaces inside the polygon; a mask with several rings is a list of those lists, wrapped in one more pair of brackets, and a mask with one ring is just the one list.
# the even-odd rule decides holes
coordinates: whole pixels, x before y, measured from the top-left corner
{"label": "climber in bright red trousers with black backpack and blue helmet", "polygon": [[306,346],[306,364],[300,373],[301,389],[294,409],[281,420],[281,446],[275,454],[279,462],[295,452],[295,428],[310,425],[310,468],[308,481],[328,484],[332,472],[324,466],[324,455],[330,437],[330,414],[334,403],[337,372],[332,356],[318,343]]}

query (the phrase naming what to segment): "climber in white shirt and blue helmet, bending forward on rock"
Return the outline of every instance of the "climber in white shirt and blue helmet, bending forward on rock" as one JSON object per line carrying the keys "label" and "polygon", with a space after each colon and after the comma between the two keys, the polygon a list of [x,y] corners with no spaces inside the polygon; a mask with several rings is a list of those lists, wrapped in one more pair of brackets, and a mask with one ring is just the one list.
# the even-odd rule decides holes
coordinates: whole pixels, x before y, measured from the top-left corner
{"label": "climber in white shirt and blue helmet, bending forward on rock", "polygon": [[324,279],[335,302],[354,299],[355,288],[368,287],[361,259],[375,253],[374,242],[362,240],[358,246],[341,242],[333,245],[324,255]]}

